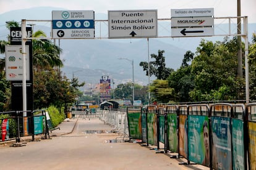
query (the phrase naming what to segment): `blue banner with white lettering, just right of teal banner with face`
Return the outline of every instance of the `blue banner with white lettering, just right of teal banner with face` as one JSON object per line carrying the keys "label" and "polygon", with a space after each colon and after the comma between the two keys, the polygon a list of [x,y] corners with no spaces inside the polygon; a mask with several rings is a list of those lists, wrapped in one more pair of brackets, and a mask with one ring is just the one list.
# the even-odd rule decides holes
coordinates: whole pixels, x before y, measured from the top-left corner
{"label": "blue banner with white lettering, just right of teal banner with face", "polygon": [[213,134],[213,169],[232,167],[231,118],[211,116]]}

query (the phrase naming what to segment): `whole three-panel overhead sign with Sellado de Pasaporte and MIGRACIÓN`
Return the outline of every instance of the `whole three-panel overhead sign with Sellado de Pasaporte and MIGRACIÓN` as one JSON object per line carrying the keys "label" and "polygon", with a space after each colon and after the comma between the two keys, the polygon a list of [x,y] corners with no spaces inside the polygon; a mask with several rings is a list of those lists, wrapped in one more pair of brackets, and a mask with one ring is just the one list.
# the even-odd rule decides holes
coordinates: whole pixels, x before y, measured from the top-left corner
{"label": "whole three-panel overhead sign with Sellado de Pasaporte and MIGRACI\u00d3N", "polygon": [[213,36],[213,8],[171,9],[171,36]]}

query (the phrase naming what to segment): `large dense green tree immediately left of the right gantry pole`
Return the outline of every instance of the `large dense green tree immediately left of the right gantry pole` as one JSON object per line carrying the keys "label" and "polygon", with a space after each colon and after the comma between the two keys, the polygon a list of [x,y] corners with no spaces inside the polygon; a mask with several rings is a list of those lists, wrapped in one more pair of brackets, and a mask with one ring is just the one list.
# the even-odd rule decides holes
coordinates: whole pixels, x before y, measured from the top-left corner
{"label": "large dense green tree immediately left of the right gantry pole", "polygon": [[[237,78],[235,49],[236,38],[200,42],[191,65],[195,88],[189,94],[193,101],[244,99],[244,84]],[[220,95],[222,92],[225,95]]]}

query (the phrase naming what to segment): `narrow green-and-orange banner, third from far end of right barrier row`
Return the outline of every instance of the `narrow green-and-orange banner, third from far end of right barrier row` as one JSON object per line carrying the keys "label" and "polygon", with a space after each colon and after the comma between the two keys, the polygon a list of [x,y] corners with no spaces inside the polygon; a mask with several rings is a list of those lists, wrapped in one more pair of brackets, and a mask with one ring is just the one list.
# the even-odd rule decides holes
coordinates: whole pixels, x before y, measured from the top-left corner
{"label": "narrow green-and-orange banner, third from far end of right barrier row", "polygon": [[147,126],[148,126],[148,144],[157,145],[157,115],[156,113],[148,113]]}

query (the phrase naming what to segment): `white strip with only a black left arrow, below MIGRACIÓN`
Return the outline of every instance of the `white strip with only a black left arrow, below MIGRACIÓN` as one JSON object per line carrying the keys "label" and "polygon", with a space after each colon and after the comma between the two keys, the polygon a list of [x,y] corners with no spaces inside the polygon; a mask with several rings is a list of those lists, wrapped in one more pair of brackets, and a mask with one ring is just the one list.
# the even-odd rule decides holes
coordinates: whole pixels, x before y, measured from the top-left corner
{"label": "white strip with only a black left arrow, below MIGRACI\u00d3N", "polygon": [[211,27],[198,28],[171,28],[171,36],[187,37],[187,36],[213,36],[214,30]]}

